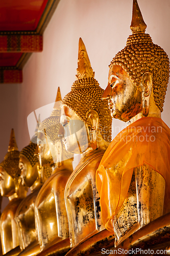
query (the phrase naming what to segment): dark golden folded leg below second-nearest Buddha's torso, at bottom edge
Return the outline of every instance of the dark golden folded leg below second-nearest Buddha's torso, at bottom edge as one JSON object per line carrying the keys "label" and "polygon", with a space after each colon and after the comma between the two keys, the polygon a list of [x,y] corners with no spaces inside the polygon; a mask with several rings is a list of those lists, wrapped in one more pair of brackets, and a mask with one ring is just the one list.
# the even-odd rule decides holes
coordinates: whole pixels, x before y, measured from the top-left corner
{"label": "dark golden folded leg below second-nearest Buddha's torso, at bottom edge", "polygon": [[74,246],[66,255],[90,255],[94,252],[101,252],[102,248],[107,249],[110,247],[114,247],[114,234],[107,229],[99,232],[95,230],[80,243]]}

